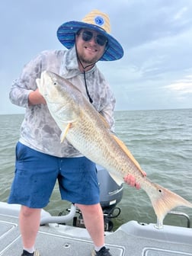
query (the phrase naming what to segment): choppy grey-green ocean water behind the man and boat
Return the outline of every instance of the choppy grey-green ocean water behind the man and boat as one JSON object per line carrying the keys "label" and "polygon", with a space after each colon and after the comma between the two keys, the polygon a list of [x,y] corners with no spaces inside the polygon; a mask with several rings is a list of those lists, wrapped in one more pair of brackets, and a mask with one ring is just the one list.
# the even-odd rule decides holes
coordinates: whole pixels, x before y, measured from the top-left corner
{"label": "choppy grey-green ocean water behind the man and boat", "polygon": [[[14,147],[24,115],[1,115],[0,126],[0,200],[7,201],[14,176]],[[116,133],[133,153],[151,181],[167,187],[192,202],[192,109],[135,110],[115,112]],[[70,206],[62,202],[56,184],[46,206],[58,216]],[[156,222],[149,197],[144,190],[123,185],[123,199],[117,205],[120,216],[113,219],[114,228],[132,219]],[[192,222],[192,209],[179,207]],[[186,226],[182,216],[168,215],[165,224]]]}

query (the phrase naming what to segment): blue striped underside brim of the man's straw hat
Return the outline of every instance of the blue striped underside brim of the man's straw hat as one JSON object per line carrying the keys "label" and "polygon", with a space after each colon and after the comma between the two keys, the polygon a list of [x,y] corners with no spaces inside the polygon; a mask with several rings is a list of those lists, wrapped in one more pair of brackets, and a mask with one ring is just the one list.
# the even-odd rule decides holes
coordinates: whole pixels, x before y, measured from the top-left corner
{"label": "blue striped underside brim of the man's straw hat", "polygon": [[71,49],[75,44],[75,34],[82,28],[96,30],[98,33],[107,37],[107,50],[100,60],[117,60],[123,57],[123,48],[120,43],[110,34],[107,34],[101,27],[94,24],[88,24],[82,21],[69,21],[62,24],[57,30],[57,38],[67,49]]}

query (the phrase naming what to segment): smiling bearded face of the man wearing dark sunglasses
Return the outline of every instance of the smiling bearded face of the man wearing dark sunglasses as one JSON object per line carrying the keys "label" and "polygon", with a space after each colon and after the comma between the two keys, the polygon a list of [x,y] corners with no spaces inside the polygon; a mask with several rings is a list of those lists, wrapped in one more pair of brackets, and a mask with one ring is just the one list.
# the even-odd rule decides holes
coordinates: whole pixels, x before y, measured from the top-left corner
{"label": "smiling bearded face of the man wearing dark sunglasses", "polygon": [[76,49],[82,64],[97,62],[104,54],[107,38],[90,29],[82,29],[76,35]]}

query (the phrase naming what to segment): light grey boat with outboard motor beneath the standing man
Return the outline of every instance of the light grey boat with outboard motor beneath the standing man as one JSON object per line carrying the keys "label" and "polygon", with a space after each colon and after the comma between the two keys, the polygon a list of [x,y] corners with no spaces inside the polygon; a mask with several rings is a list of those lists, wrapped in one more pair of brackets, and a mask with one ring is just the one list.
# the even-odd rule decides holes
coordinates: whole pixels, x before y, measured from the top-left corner
{"label": "light grey boat with outboard motor beneath the standing man", "polygon": [[[104,168],[97,167],[105,242],[113,256],[192,256],[192,229],[185,213],[171,212],[187,219],[184,227],[131,220],[113,231],[112,219],[120,214],[118,203],[123,197],[123,186],[118,186]],[[20,207],[0,202],[0,256],[21,255]],[[90,256],[93,243],[81,212],[71,204],[66,215],[51,216],[42,210],[36,247],[42,256]]]}

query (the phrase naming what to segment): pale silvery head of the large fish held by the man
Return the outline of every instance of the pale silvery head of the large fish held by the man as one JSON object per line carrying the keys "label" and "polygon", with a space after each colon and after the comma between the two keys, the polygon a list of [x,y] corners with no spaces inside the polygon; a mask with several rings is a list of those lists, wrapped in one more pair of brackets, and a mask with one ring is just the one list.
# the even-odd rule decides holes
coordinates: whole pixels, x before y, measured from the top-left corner
{"label": "pale silvery head of the large fish held by the man", "polygon": [[60,127],[63,126],[63,123],[77,120],[81,111],[75,95],[80,91],[75,86],[65,78],[49,71],[42,72],[36,82],[40,94],[46,100],[50,114]]}

